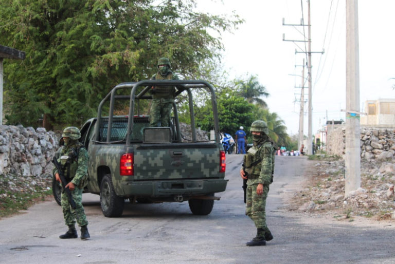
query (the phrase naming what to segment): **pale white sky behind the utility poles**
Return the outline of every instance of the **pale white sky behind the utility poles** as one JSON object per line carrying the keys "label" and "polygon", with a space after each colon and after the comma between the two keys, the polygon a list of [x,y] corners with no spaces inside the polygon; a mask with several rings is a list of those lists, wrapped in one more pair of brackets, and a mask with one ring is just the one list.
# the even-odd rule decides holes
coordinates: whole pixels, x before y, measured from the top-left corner
{"label": "pale white sky behind the utility poles", "polygon": [[[264,98],[270,111],[284,121],[288,133],[299,130],[300,88],[304,53],[303,27],[308,24],[307,0],[199,0],[198,8],[212,14],[235,10],[245,23],[233,33],[223,33],[223,67],[230,78],[256,75],[270,97]],[[311,0],[312,131],[327,120],[345,120],[346,109],[346,1]],[[360,61],[360,110],[366,100],[395,98],[393,0],[358,1]],[[304,27],[308,32],[308,27]],[[307,44],[306,44],[307,47]],[[325,52],[321,54],[320,52]],[[295,66],[298,65],[298,66]],[[305,68],[307,77],[307,68]],[[308,99],[308,83],[304,98]],[[308,102],[304,106],[304,135],[308,134]]]}

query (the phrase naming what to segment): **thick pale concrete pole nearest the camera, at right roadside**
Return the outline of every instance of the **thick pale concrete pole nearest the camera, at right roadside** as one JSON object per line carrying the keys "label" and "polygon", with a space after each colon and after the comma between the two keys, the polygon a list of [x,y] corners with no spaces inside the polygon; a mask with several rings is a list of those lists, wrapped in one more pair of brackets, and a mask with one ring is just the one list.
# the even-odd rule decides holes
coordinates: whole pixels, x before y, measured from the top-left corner
{"label": "thick pale concrete pole nearest the camera, at right roadside", "polygon": [[360,57],[358,0],[346,0],[346,184],[345,195],[361,186]]}

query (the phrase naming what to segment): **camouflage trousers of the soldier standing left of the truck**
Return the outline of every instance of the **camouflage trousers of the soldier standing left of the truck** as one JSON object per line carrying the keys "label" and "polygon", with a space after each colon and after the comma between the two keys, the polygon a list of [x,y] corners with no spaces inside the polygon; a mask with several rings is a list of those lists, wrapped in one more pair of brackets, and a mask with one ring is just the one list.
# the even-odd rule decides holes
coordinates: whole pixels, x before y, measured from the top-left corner
{"label": "camouflage trousers of the soldier standing left of the truck", "polygon": [[73,196],[73,200],[76,203],[75,210],[71,209],[66,193],[62,192],[60,199],[65,224],[74,225],[77,220],[77,223],[80,227],[87,225],[88,221],[86,220],[85,211],[82,206],[82,189],[75,188],[73,191],[71,191],[71,196]]}

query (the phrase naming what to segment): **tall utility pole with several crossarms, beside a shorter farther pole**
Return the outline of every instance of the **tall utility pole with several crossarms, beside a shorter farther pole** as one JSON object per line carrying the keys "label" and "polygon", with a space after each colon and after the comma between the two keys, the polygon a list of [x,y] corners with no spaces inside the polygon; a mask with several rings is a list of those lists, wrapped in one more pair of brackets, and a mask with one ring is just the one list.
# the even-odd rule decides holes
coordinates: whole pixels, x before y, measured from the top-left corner
{"label": "tall utility pole with several crossarms, beside a shorter farther pole", "polygon": [[[307,72],[308,72],[308,82],[309,82],[309,142],[307,145],[307,153],[309,155],[313,154],[313,136],[312,136],[312,130],[313,130],[313,88],[312,88],[312,76],[311,76],[311,53],[324,53],[324,50],[322,50],[321,52],[312,52],[311,51],[311,23],[310,23],[310,0],[307,1],[308,3],[308,24],[304,25],[303,24],[303,20],[301,20],[300,25],[295,25],[295,24],[285,24],[284,23],[284,18],[282,18],[282,25],[283,26],[307,26],[308,27],[308,39],[306,41],[306,39],[302,40],[302,41],[297,41],[297,40],[285,40],[285,35],[283,34],[282,36],[282,40],[283,41],[292,41],[292,42],[307,42],[308,43],[308,50],[307,51],[297,51],[295,50],[295,54],[296,53],[307,53],[308,55],[308,65],[307,65]],[[299,121],[300,122],[300,121]]]}

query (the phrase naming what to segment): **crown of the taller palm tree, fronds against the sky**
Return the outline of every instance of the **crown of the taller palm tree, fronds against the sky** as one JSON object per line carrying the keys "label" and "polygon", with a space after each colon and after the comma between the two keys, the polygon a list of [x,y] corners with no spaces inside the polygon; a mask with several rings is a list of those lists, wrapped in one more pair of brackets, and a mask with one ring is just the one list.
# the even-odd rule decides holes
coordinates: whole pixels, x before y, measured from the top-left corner
{"label": "crown of the taller palm tree, fronds against the sky", "polygon": [[248,103],[256,103],[261,107],[267,108],[266,102],[260,97],[268,97],[269,93],[259,83],[256,76],[250,76],[247,81],[240,80],[236,84],[239,85],[240,96],[244,97]]}

